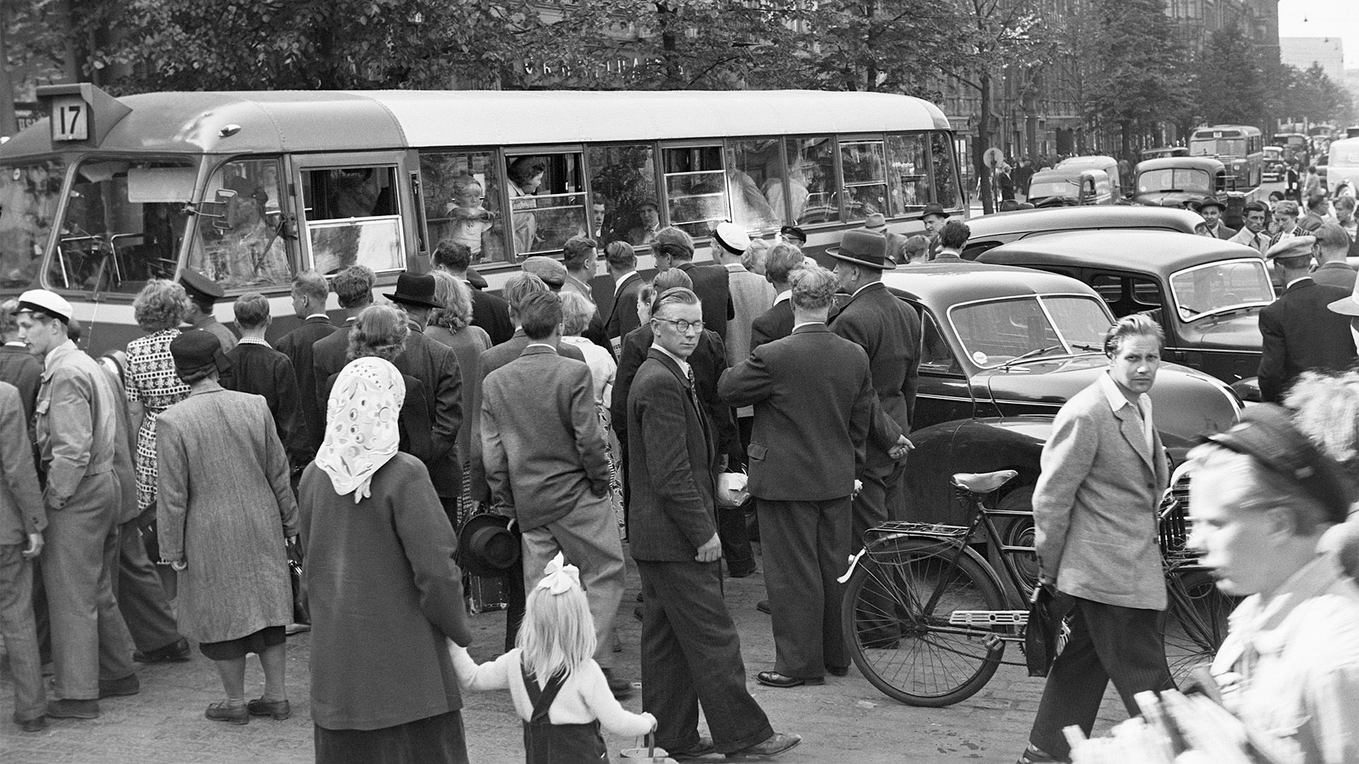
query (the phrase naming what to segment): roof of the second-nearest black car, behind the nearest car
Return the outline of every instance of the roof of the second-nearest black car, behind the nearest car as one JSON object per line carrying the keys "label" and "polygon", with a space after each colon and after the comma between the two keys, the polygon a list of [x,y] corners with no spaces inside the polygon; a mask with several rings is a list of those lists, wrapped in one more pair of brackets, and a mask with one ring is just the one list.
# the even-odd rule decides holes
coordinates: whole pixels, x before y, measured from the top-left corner
{"label": "roof of the second-nearest black car, behind the nearest car", "polygon": [[1177,231],[1067,231],[1033,237],[989,249],[978,256],[985,262],[1010,265],[1094,266],[1143,273],[1174,273],[1184,268],[1253,257],[1260,251],[1211,237]]}

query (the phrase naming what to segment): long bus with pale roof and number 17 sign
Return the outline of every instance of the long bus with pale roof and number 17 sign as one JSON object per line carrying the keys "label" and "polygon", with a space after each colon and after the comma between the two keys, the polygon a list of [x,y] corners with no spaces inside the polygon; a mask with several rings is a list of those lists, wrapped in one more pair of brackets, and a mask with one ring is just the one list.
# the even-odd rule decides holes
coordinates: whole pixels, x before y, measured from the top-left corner
{"label": "long bus with pale roof and number 17 sign", "polygon": [[[794,224],[834,246],[881,212],[964,215],[954,133],[917,98],[819,91],[152,92],[39,90],[46,118],[0,144],[0,298],[63,294],[91,351],[140,336],[132,299],[185,268],[296,325],[299,269],[363,264],[378,292],[463,242],[489,288],[571,237]],[[607,279],[598,277],[601,296]],[[333,300],[333,298],[332,298]],[[336,309],[336,303],[330,303]]]}

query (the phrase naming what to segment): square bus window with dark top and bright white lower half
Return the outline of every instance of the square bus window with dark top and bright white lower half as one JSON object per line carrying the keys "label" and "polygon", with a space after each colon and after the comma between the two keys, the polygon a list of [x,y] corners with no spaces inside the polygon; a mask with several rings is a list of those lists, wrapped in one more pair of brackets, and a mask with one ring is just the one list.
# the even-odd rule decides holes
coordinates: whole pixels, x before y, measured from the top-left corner
{"label": "square bus window with dark top and bright white lower half", "polygon": [[313,268],[336,273],[349,265],[402,271],[406,245],[397,207],[394,166],[302,170],[302,204]]}

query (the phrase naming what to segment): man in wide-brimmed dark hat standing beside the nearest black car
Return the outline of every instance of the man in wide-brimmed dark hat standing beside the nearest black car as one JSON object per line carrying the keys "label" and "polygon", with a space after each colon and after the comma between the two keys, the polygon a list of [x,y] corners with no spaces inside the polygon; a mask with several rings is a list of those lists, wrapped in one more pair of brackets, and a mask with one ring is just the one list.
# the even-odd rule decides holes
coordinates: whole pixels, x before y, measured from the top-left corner
{"label": "man in wide-brimmed dark hat standing beside the nearest black car", "polygon": [[[828,254],[839,260],[836,276],[849,299],[830,319],[830,330],[868,353],[872,387],[878,393],[881,416],[897,423],[902,435],[896,443],[870,440],[863,489],[853,500],[853,542],[866,530],[886,519],[901,519],[902,462],[911,447],[906,440],[916,406],[916,377],[920,367],[920,317],[897,299],[882,283],[887,241],[871,231],[845,231],[839,249]],[[887,430],[886,427],[881,428]]]}

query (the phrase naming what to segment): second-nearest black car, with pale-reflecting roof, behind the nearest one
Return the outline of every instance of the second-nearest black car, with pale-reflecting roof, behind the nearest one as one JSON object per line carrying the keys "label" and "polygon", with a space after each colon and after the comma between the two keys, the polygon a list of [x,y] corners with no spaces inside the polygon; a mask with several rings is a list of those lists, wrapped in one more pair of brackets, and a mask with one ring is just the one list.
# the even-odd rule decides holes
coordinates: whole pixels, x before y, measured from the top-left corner
{"label": "second-nearest black car, with pale-reflecting roof, behind the nearest one", "polygon": [[1166,332],[1166,360],[1229,385],[1260,367],[1260,309],[1273,302],[1273,287],[1252,247],[1163,231],[1089,231],[1000,246],[980,261],[1072,276],[1114,315],[1148,313]]}

